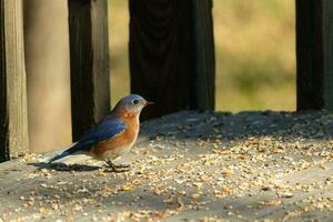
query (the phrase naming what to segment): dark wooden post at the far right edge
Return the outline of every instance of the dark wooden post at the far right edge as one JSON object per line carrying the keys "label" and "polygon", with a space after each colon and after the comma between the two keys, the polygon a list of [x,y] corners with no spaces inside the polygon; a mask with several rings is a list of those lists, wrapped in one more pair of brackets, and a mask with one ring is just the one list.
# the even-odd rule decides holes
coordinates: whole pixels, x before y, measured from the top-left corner
{"label": "dark wooden post at the far right edge", "polygon": [[333,111],[332,21],[332,1],[296,0],[299,111]]}

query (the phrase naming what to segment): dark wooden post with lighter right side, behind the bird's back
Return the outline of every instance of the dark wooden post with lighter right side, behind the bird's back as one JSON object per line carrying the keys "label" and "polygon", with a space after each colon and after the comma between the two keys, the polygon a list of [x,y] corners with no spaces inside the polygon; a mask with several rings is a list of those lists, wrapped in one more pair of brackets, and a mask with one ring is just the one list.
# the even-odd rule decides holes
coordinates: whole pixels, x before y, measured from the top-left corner
{"label": "dark wooden post with lighter right side, behind the bird's back", "polygon": [[69,0],[72,134],[110,110],[108,0]]}

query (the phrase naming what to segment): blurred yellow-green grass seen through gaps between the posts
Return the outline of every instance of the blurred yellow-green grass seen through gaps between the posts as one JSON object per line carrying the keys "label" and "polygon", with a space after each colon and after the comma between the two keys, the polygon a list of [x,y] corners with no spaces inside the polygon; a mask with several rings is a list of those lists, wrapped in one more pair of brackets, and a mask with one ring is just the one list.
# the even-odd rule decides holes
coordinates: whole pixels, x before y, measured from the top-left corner
{"label": "blurred yellow-green grass seen through gaps between the posts", "polygon": [[[128,1],[110,1],[113,103],[129,92]],[[216,110],[295,110],[292,0],[214,0]]]}

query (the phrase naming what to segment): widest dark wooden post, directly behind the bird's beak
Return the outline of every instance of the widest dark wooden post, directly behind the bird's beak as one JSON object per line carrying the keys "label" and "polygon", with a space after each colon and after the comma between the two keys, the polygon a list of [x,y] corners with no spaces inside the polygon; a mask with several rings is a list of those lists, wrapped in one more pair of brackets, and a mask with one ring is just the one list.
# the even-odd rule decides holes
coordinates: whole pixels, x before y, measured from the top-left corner
{"label": "widest dark wooden post, directly behind the bird's beak", "polygon": [[130,0],[131,91],[155,105],[143,118],[214,109],[211,0]]}

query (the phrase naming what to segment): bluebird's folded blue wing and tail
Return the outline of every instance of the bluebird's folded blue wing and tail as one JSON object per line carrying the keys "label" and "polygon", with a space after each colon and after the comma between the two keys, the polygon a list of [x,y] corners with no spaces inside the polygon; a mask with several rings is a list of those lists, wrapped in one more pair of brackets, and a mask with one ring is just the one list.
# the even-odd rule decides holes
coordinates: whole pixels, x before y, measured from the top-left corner
{"label": "bluebird's folded blue wing and tail", "polygon": [[125,130],[125,124],[121,120],[103,120],[94,128],[88,130],[72,148],[63,151],[59,155],[52,158],[49,162],[53,162],[78,151],[88,151],[91,145],[97,142],[113,138]]}

